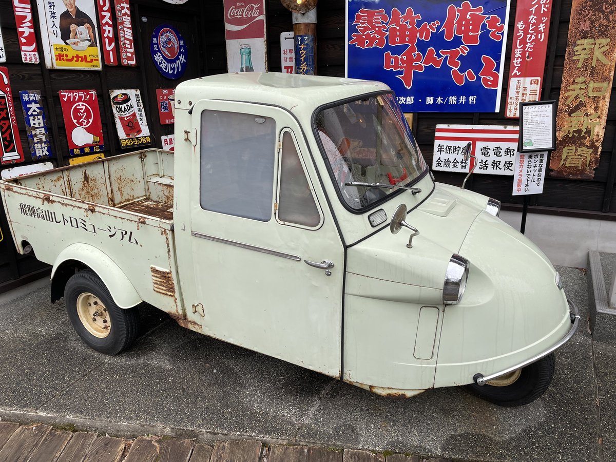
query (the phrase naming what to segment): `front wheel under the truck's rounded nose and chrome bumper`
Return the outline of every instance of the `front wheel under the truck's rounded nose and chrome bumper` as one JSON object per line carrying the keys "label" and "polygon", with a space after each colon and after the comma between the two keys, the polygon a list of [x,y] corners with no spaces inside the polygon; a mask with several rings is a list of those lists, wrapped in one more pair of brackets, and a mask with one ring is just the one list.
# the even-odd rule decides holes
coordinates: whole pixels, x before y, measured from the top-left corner
{"label": "front wheel under the truck's rounded nose and chrome bumper", "polygon": [[512,373],[466,389],[491,403],[516,407],[533,402],[548,389],[554,376],[554,353]]}

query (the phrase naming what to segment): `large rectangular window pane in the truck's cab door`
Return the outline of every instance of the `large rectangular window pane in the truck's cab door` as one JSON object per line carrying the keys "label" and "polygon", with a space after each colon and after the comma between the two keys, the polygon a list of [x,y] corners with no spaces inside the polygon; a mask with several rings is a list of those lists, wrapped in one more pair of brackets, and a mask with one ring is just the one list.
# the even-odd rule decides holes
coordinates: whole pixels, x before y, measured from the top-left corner
{"label": "large rectangular window pane in the truck's cab door", "polygon": [[269,221],[274,195],[276,123],[225,111],[201,113],[201,208]]}

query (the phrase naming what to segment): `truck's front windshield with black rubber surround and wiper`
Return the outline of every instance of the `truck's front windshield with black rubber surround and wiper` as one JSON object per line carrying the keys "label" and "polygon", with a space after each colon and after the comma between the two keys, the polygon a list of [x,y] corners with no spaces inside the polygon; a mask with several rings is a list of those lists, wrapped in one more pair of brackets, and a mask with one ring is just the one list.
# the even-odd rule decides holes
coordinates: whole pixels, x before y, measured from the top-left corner
{"label": "truck's front windshield with black rubber surround and wiper", "polygon": [[319,111],[317,139],[342,200],[370,207],[426,169],[395,97],[371,96]]}

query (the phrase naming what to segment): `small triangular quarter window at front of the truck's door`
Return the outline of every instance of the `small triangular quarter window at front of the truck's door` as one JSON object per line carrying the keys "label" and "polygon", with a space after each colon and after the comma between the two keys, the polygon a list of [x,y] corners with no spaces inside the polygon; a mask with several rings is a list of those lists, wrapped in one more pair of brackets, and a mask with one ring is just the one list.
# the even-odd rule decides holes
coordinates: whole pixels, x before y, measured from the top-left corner
{"label": "small triangular quarter window at front of the truck's door", "polygon": [[277,218],[280,222],[310,228],[321,222],[317,204],[289,131],[285,131],[282,137]]}

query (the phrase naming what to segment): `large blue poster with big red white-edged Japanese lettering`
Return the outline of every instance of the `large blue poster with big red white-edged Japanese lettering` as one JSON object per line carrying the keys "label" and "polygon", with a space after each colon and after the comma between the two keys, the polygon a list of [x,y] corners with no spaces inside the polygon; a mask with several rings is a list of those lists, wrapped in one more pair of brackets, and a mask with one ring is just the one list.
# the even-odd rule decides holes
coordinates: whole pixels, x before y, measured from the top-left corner
{"label": "large blue poster with big red white-edged Japanese lettering", "polygon": [[510,0],[347,0],[346,75],[404,112],[498,112]]}

